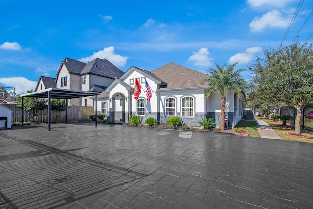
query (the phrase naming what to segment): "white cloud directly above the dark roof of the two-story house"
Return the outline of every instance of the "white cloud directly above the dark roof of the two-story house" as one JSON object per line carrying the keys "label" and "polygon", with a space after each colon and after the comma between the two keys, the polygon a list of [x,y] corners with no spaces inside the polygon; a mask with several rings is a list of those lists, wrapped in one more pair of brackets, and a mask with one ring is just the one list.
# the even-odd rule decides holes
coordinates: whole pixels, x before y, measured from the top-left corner
{"label": "white cloud directly above the dark roof of the two-story house", "polygon": [[112,64],[114,64],[117,67],[124,67],[128,57],[123,57],[121,55],[115,54],[114,53],[114,47],[110,46],[108,48],[104,48],[101,51],[98,52],[94,52],[91,56],[89,57],[84,57],[79,59],[78,61],[81,62],[90,62],[91,60],[94,60],[95,58],[99,58],[99,59],[107,59],[110,62],[112,62]]}

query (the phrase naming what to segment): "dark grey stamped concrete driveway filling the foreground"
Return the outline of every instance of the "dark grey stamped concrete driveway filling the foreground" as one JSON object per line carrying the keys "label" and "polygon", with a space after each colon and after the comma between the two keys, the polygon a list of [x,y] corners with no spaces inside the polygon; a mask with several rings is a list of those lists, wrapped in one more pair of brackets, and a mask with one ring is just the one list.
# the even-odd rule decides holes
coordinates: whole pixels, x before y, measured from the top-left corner
{"label": "dark grey stamped concrete driveway filling the foreground", "polygon": [[89,123],[0,130],[0,208],[313,208],[313,144]]}

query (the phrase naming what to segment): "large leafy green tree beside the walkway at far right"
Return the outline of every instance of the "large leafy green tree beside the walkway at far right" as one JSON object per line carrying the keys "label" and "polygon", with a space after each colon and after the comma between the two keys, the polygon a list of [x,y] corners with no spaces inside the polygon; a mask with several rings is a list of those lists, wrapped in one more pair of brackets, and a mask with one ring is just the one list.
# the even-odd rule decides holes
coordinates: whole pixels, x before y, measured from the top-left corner
{"label": "large leafy green tree beside the walkway at far right", "polygon": [[296,108],[295,133],[300,134],[302,109],[313,102],[312,44],[293,42],[276,50],[264,50],[264,55],[249,66],[256,90],[266,98]]}

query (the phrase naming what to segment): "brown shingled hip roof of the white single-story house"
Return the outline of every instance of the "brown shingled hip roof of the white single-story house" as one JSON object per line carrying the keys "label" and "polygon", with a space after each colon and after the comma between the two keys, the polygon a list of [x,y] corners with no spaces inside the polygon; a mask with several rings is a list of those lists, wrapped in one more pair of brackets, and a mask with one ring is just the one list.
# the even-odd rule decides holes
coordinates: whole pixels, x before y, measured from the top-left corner
{"label": "brown shingled hip roof of the white single-story house", "polygon": [[209,87],[207,84],[200,83],[201,80],[207,78],[208,75],[173,62],[157,68],[156,70],[152,70],[151,73],[167,84],[160,87],[166,90]]}

